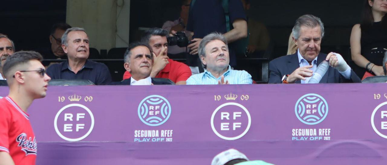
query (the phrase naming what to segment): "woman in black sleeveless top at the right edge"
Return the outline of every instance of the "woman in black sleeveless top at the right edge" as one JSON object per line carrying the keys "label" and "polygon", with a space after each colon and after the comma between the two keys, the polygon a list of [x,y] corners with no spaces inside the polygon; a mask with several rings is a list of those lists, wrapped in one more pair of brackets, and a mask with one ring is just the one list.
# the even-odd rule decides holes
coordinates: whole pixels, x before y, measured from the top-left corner
{"label": "woman in black sleeveless top at the right edge", "polygon": [[363,20],[351,32],[352,69],[359,77],[366,72],[384,75],[382,63],[387,50],[387,0],[365,0]]}

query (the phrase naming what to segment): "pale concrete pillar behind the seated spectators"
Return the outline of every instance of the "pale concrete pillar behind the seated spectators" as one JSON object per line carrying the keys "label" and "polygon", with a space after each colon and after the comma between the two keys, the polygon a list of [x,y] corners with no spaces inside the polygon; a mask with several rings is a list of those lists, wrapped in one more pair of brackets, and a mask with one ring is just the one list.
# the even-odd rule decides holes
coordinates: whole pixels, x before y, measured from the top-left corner
{"label": "pale concrete pillar behind the seated spectators", "polygon": [[127,47],[130,0],[67,0],[66,22],[83,27],[90,47]]}

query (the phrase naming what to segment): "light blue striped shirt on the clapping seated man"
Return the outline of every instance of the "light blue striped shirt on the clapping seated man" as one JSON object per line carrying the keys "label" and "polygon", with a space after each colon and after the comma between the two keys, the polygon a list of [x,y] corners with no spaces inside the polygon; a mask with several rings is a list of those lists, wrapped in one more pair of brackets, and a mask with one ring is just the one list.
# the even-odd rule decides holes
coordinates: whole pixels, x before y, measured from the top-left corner
{"label": "light blue striped shirt on the clapping seated man", "polygon": [[[223,73],[224,81],[228,81],[229,84],[252,84],[253,80],[251,75],[246,71],[231,70],[228,66],[228,70]],[[187,79],[187,85],[216,85],[221,80],[221,76],[216,78],[212,76],[211,72],[205,70],[203,73],[194,74]]]}

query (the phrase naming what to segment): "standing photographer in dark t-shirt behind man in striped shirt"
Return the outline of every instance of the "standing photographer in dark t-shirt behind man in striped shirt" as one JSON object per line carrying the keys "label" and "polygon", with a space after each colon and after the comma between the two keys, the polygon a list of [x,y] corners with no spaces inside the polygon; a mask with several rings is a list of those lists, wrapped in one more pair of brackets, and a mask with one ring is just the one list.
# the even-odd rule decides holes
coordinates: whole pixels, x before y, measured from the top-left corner
{"label": "standing photographer in dark t-shirt behind man in striped shirt", "polygon": [[[228,14],[223,8],[223,2],[228,2],[228,7],[225,7],[228,9]],[[226,20],[227,15],[229,21]],[[191,69],[196,67],[197,72],[200,71],[198,47],[202,38],[212,32],[222,33],[226,37],[229,44],[230,66],[235,67],[236,50],[239,50],[239,46],[234,44],[247,37],[247,22],[242,2],[240,0],[192,0],[187,30],[194,32],[191,44],[188,45],[191,55],[187,57],[187,64]]]}

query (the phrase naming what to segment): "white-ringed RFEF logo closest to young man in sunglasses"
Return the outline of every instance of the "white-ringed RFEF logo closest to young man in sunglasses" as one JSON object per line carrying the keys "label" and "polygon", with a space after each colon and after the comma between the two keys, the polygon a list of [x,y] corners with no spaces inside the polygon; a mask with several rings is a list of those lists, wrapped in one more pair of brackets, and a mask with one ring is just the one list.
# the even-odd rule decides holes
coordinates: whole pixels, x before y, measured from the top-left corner
{"label": "white-ringed RFEF logo closest to young man in sunglasses", "polygon": [[82,104],[68,104],[58,111],[54,127],[62,139],[79,141],[89,136],[93,130],[94,116]]}

